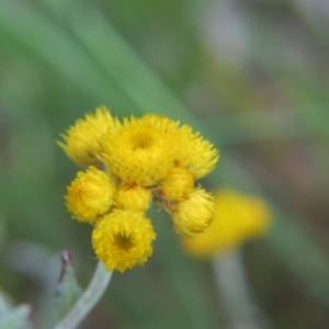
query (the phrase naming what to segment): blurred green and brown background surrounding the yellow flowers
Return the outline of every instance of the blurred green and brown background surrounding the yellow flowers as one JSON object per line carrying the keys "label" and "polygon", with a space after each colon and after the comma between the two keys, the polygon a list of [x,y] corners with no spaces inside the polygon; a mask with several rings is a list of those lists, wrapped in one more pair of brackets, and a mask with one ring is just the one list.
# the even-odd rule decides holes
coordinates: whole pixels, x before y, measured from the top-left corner
{"label": "blurred green and brown background surrounding the yellow flowers", "polygon": [[[329,2],[0,1],[0,286],[45,329],[71,251],[86,285],[91,228],[63,195],[78,168],[56,145],[95,106],[192,125],[220,149],[202,184],[262,195],[274,224],[243,264],[269,328],[329,328]],[[81,328],[229,328],[209,262],[158,239],[114,273]],[[265,315],[265,316],[264,316]]]}

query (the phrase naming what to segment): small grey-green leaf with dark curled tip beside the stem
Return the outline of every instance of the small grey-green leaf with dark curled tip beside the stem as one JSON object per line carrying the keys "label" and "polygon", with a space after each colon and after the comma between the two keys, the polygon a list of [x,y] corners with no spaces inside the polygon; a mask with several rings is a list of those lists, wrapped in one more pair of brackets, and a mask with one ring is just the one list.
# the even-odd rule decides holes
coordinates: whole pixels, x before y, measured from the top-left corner
{"label": "small grey-green leaf with dark curled tip beside the stem", "polygon": [[56,287],[58,318],[63,318],[81,296],[71,256],[67,250],[61,252],[61,272]]}

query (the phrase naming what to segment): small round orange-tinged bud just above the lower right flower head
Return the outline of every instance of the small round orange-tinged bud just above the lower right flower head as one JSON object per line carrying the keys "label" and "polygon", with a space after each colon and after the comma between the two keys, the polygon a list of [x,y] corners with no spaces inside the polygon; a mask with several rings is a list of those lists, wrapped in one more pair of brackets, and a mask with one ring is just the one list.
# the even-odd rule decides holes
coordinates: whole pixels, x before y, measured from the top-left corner
{"label": "small round orange-tinged bud just above the lower right flower head", "polygon": [[190,172],[183,168],[174,167],[161,181],[160,195],[172,201],[179,201],[188,195],[193,189],[193,175]]}

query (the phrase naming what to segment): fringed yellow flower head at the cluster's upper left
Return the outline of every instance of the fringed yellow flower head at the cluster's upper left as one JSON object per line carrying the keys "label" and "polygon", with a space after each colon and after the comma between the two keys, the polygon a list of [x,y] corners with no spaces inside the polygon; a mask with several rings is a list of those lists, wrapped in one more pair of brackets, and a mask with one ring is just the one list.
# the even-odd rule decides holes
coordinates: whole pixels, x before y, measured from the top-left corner
{"label": "fringed yellow flower head at the cluster's upper left", "polygon": [[58,145],[67,156],[79,166],[99,164],[101,162],[101,139],[106,131],[115,127],[115,120],[105,106],[100,106],[94,114],[78,120],[66,135],[65,143]]}

